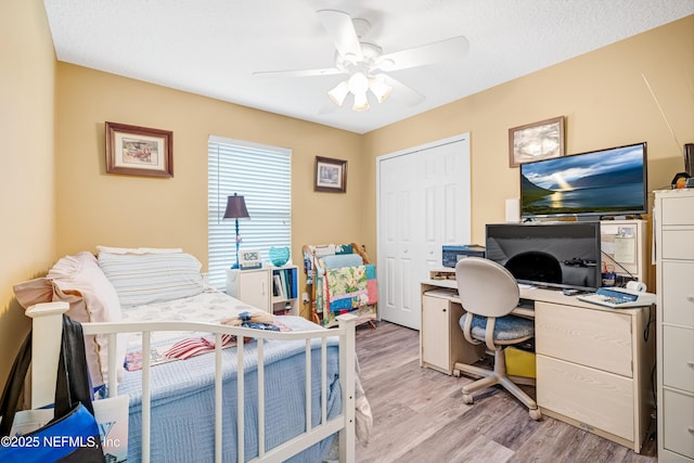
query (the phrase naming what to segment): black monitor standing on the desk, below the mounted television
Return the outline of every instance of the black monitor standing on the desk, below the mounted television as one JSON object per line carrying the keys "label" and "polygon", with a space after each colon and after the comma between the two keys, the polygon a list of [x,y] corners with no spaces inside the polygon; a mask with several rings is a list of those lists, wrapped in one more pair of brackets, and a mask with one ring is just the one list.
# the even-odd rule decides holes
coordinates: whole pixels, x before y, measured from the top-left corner
{"label": "black monitor standing on the desk, below the mounted television", "polygon": [[600,222],[487,224],[486,257],[518,283],[595,291],[602,285]]}

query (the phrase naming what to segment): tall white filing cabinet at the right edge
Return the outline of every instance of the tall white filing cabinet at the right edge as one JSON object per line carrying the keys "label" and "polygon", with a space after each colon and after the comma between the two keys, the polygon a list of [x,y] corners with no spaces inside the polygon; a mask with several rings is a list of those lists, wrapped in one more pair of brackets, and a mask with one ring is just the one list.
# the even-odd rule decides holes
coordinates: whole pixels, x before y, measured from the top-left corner
{"label": "tall white filing cabinet at the right edge", "polygon": [[694,190],[657,191],[658,459],[694,461]]}

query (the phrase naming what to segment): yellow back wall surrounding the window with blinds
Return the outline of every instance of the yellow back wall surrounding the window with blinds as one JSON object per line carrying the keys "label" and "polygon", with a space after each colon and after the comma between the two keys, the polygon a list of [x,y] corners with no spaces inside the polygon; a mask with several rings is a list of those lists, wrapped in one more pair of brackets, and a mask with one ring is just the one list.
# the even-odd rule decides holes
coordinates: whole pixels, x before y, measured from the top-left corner
{"label": "yellow back wall surrounding the window with blinds", "polygon": [[[355,218],[364,201],[359,172],[365,159],[356,133],[66,63],[57,64],[56,106],[61,255],[99,244],[181,246],[206,267],[209,134],[293,150],[295,263],[304,244],[361,236]],[[106,120],[171,130],[174,178],[107,175]],[[345,194],[313,192],[316,156],[347,160]]]}

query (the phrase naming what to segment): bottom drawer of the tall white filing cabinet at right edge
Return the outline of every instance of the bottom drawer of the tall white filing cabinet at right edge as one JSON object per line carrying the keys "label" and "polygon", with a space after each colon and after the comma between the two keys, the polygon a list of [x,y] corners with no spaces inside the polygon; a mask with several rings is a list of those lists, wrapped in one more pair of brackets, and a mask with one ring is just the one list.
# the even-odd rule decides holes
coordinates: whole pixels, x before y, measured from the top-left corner
{"label": "bottom drawer of the tall white filing cabinet at right edge", "polygon": [[[664,390],[663,407],[665,423],[664,447],[673,452],[694,459],[694,397]],[[660,426],[660,423],[658,423]]]}

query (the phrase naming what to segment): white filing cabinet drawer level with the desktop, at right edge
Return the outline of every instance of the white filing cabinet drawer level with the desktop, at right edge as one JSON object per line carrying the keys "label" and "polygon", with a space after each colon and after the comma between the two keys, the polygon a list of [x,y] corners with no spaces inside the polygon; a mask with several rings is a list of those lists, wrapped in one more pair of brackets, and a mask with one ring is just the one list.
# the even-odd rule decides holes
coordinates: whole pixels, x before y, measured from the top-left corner
{"label": "white filing cabinet drawer level with the desktop, at right edge", "polygon": [[663,323],[694,327],[694,262],[665,260],[661,267]]}

